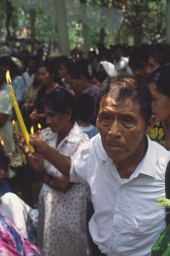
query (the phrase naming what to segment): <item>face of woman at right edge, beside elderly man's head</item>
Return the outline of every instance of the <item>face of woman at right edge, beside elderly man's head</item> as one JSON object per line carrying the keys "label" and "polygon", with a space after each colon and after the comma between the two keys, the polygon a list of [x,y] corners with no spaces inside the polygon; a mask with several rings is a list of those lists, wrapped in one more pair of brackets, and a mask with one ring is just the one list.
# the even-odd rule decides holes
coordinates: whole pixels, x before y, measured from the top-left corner
{"label": "face of woman at right edge, beside elderly man's head", "polygon": [[156,121],[165,121],[170,118],[170,97],[158,92],[155,84],[149,84],[152,94],[152,113]]}

